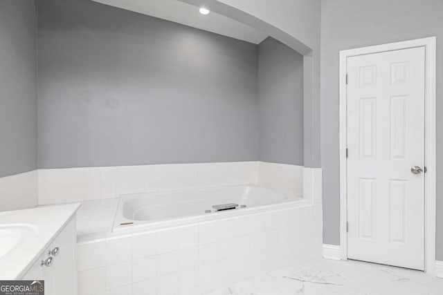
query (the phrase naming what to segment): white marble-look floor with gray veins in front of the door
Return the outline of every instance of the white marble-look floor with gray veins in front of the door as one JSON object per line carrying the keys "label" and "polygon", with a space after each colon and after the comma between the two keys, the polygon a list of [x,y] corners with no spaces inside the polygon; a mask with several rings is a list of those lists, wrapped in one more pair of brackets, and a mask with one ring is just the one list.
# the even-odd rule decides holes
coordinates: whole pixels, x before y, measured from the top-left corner
{"label": "white marble-look floor with gray veins in front of the door", "polygon": [[413,269],[317,258],[208,295],[442,295],[443,279]]}

